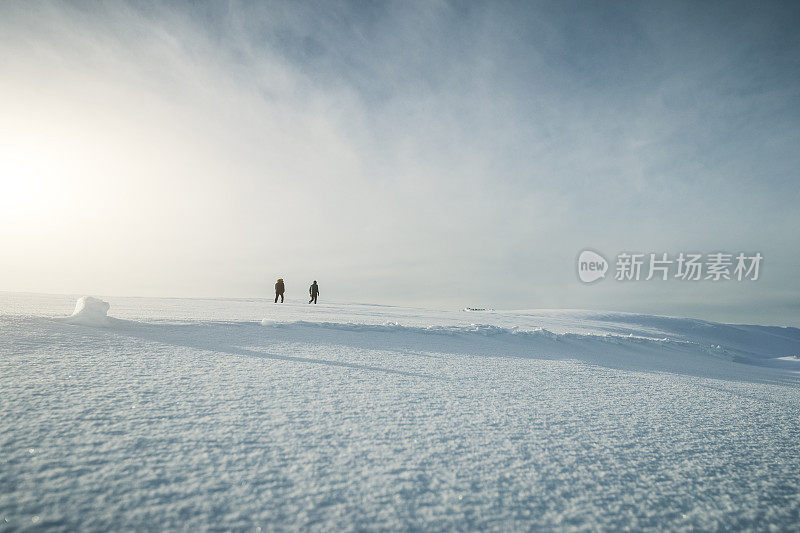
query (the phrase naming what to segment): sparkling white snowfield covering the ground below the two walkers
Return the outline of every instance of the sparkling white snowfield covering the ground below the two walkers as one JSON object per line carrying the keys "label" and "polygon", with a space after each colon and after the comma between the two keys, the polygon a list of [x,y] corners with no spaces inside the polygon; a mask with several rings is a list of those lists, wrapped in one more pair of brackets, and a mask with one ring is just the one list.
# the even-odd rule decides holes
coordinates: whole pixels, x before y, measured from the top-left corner
{"label": "sparkling white snowfield covering the ground below the two walkers", "polygon": [[0,529],[800,528],[795,328],[104,300],[0,294]]}

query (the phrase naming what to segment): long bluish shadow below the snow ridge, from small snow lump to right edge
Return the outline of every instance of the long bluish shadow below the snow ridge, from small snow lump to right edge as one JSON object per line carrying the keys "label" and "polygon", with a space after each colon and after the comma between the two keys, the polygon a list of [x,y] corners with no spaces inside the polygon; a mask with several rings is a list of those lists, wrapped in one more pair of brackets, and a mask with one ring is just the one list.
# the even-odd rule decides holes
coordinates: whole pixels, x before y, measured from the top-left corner
{"label": "long bluish shadow below the snow ridge, from small snow lump to right edge", "polygon": [[[414,328],[357,329],[313,323],[263,327],[257,323],[210,322],[153,324],[117,321],[116,334],[198,350],[322,364],[384,372],[406,377],[446,379],[413,370],[282,355],[287,349],[312,351],[326,345],[363,351],[402,354],[393,362],[414,364],[403,356],[456,354],[474,357],[514,357],[545,360],[579,360],[616,370],[667,372],[726,381],[800,385],[791,373],[742,364],[724,353],[712,355],[700,346],[626,337],[585,335],[511,334],[508,332],[418,331]],[[733,358],[735,359],[735,358]]]}

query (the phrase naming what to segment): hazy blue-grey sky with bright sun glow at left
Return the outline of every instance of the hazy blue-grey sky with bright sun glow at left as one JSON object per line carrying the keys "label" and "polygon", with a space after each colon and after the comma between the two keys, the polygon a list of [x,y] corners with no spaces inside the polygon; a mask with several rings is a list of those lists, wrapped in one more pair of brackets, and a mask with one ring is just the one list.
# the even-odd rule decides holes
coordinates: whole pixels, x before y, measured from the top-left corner
{"label": "hazy blue-grey sky with bright sun glow at left", "polygon": [[[3,2],[0,290],[282,277],[797,326],[798,28],[790,2]],[[587,248],[764,261],[583,284]]]}

